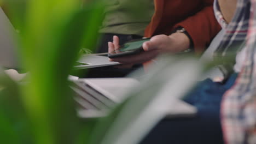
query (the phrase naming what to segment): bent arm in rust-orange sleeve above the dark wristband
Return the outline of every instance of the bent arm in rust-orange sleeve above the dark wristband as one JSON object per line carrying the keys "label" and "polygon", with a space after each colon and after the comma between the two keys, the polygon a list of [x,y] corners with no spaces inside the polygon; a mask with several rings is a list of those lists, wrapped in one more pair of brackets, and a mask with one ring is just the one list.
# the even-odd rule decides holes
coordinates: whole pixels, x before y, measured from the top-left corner
{"label": "bent arm in rust-orange sleeve above the dark wristband", "polygon": [[214,16],[213,0],[203,0],[202,10],[177,23],[175,27],[179,26],[185,28],[189,33],[195,52],[203,52],[221,29]]}

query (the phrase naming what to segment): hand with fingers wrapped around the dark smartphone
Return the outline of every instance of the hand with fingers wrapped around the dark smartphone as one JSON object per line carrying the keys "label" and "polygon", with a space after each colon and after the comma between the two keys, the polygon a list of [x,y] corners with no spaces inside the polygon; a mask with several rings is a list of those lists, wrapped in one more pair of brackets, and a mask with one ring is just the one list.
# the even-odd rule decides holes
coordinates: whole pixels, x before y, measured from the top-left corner
{"label": "hand with fingers wrapped around the dark smartphone", "polygon": [[[113,43],[108,42],[108,52],[119,52],[119,38],[113,37]],[[169,36],[161,34],[152,37],[142,45],[144,52],[136,55],[112,58],[110,61],[115,61],[123,64],[127,63],[143,63],[150,61],[160,53],[177,53],[189,48],[189,38],[183,33],[173,33]]]}

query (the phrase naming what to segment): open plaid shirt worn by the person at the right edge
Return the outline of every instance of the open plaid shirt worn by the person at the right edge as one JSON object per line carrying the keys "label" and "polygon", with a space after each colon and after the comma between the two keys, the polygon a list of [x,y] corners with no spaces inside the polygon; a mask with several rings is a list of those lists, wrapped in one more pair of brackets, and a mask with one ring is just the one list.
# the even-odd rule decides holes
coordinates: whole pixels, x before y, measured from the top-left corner
{"label": "open plaid shirt worn by the person at the right edge", "polygon": [[[216,17],[226,28],[226,35],[219,50],[225,55],[230,45],[245,40],[249,23],[246,59],[235,85],[224,94],[221,106],[222,128],[225,143],[256,143],[256,0],[238,0],[234,19],[226,25],[218,3],[215,3]],[[251,14],[249,13],[251,9]],[[251,16],[250,16],[251,15]],[[250,16],[250,18],[249,18]],[[249,21],[248,21],[249,20]],[[245,24],[245,25],[244,25]],[[241,34],[240,34],[241,33]],[[225,46],[227,46],[225,48]],[[253,73],[254,72],[254,73]]]}

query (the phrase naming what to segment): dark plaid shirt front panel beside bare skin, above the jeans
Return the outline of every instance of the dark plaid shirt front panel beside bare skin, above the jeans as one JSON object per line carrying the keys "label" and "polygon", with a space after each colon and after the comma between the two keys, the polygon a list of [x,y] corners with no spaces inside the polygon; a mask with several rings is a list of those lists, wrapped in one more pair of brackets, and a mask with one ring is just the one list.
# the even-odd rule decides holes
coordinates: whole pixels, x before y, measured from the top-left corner
{"label": "dark plaid shirt front panel beside bare skin, above the jeans", "polygon": [[236,14],[232,21],[227,24],[220,12],[218,1],[214,1],[216,19],[225,30],[223,40],[214,53],[214,60],[221,61],[222,64],[217,66],[222,70],[224,77],[228,77],[233,73],[236,54],[243,47],[242,44],[245,41],[248,30],[249,8],[249,0],[238,0]]}

